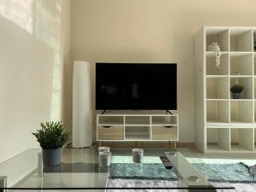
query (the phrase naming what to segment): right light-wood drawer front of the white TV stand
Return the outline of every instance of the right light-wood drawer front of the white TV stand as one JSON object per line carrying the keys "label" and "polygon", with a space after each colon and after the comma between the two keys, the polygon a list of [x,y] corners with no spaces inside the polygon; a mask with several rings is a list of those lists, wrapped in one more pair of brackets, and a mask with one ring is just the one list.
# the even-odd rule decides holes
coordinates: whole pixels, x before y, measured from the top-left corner
{"label": "right light-wood drawer front of the white TV stand", "polygon": [[177,141],[177,126],[152,126],[152,139]]}

